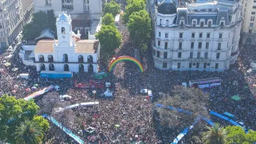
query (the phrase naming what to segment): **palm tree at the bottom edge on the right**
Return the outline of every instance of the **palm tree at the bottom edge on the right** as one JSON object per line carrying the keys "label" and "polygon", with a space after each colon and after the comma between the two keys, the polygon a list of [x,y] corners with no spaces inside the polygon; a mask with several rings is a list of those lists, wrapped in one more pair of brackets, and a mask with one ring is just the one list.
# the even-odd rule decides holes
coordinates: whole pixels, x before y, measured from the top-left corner
{"label": "palm tree at the bottom edge on the right", "polygon": [[215,124],[212,127],[206,126],[208,131],[202,133],[204,144],[225,144],[227,131],[220,124]]}

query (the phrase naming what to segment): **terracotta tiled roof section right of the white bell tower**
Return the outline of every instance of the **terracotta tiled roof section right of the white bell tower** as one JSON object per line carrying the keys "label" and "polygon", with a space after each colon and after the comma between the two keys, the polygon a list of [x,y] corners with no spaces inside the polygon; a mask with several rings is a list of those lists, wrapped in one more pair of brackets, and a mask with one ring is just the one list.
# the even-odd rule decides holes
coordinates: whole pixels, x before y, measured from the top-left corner
{"label": "terracotta tiled roof section right of the white bell tower", "polygon": [[95,53],[98,45],[98,40],[79,40],[76,42],[76,53]]}

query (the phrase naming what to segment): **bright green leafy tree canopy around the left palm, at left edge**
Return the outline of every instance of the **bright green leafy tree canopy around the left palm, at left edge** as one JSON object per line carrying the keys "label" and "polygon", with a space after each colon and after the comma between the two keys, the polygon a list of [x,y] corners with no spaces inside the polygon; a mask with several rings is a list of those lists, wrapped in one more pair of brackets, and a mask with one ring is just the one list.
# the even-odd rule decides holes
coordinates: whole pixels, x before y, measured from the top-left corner
{"label": "bright green leafy tree canopy around the left palm, at left edge", "polygon": [[[49,129],[49,123],[42,120],[40,118],[42,116],[36,116],[38,109],[39,107],[33,100],[16,99],[8,95],[0,97],[0,141],[15,143],[15,138],[13,138],[15,129],[20,126],[20,122],[26,119],[39,119],[38,122],[42,122],[40,125]],[[47,131],[47,128],[44,130]]]}

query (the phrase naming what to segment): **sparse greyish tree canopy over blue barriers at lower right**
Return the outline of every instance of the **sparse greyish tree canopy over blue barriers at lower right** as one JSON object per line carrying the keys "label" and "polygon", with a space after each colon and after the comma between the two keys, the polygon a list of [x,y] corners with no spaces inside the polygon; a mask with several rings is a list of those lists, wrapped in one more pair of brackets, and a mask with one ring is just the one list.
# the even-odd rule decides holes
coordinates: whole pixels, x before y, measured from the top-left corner
{"label": "sparse greyish tree canopy over blue barriers at lower right", "polygon": [[156,108],[161,125],[168,128],[179,127],[179,129],[182,129],[193,124],[197,116],[208,117],[209,114],[205,108],[208,98],[209,95],[203,93],[200,89],[175,86],[171,96],[165,96],[157,103],[190,111],[192,115],[170,109]]}

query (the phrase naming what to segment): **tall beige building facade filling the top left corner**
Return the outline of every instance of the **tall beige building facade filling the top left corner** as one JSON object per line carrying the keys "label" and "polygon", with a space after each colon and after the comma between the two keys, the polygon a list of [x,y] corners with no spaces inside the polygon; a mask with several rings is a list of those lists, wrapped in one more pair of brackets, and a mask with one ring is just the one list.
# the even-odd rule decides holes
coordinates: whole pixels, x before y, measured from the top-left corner
{"label": "tall beige building facade filling the top left corner", "polygon": [[0,47],[8,47],[30,19],[33,0],[2,0],[0,8]]}

